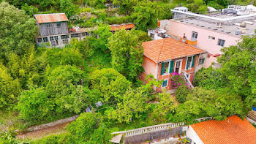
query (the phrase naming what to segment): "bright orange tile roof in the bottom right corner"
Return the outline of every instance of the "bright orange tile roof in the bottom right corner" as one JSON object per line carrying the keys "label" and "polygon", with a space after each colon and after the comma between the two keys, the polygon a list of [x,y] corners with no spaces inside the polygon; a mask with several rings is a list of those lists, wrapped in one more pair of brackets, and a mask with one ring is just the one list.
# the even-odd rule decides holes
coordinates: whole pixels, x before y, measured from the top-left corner
{"label": "bright orange tile roof in the bottom right corner", "polygon": [[225,121],[204,121],[192,124],[192,128],[205,144],[256,143],[256,129],[245,118],[236,115]]}

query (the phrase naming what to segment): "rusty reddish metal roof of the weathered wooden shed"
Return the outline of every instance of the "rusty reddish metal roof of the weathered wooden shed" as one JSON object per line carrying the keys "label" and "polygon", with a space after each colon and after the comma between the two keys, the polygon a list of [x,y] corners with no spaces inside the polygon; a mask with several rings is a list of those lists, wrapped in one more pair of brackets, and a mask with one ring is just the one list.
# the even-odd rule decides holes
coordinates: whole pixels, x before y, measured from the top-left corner
{"label": "rusty reddish metal roof of the weathered wooden shed", "polygon": [[51,13],[51,14],[39,14],[34,15],[37,23],[55,23],[61,21],[68,21],[65,13]]}

